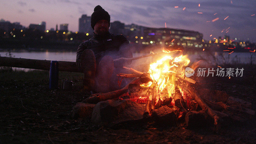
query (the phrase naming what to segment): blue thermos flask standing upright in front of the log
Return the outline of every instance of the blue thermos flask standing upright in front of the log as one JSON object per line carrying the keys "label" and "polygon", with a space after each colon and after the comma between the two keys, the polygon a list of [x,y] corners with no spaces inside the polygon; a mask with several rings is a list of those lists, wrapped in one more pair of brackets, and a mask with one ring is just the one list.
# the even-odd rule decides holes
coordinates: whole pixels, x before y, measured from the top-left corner
{"label": "blue thermos flask standing upright in front of the log", "polygon": [[50,66],[50,79],[49,79],[49,88],[58,89],[58,81],[59,81],[59,62],[51,61]]}

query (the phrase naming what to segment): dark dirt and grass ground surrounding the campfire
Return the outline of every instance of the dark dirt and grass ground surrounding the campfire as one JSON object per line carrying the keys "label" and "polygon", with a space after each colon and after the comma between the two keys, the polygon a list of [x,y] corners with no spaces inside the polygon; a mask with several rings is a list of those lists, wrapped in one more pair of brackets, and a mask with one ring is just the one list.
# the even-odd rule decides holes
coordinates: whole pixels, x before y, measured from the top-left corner
{"label": "dark dirt and grass ground surrounding the campfire", "polygon": [[[60,72],[59,78],[73,80],[73,90],[49,90],[48,71],[0,72],[2,143],[256,143],[254,122],[227,125],[215,133],[212,128],[190,130],[184,123],[108,128],[92,124],[89,118],[73,120],[72,108],[90,93],[82,91],[81,73]],[[255,104],[256,89],[250,76],[240,80],[205,77],[200,83]]]}

